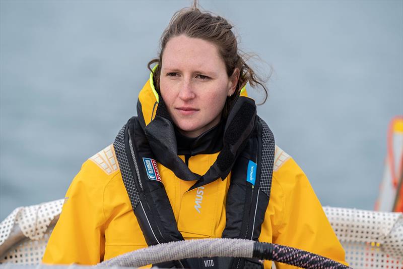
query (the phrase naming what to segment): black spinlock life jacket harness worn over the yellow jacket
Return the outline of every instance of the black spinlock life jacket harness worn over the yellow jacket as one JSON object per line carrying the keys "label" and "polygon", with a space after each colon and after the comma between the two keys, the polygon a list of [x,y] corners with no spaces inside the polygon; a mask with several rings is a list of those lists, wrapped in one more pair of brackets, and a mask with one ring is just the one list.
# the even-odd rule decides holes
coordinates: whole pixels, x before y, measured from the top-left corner
{"label": "black spinlock life jacket harness worn over the yellow jacket", "polygon": [[[184,240],[160,180],[151,180],[145,162],[158,160],[182,180],[197,180],[189,189],[225,179],[231,171],[223,238],[258,241],[270,198],[275,141],[266,123],[256,116],[254,101],[238,97],[227,118],[223,148],[205,175],[192,173],[177,156],[173,124],[162,98],[155,118],[146,126],[138,102],[138,117],[119,131],[113,145],[131,206],[149,246]],[[191,258],[154,264],[178,268],[262,268],[256,259]]]}

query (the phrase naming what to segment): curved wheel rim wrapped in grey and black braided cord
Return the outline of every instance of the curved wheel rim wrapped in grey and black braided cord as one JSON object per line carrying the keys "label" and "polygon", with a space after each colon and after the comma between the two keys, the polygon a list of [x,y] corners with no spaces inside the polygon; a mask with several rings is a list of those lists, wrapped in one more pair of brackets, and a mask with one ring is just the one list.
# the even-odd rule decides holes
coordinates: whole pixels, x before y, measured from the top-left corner
{"label": "curved wheel rim wrapped in grey and black braided cord", "polygon": [[348,269],[337,261],[293,247],[245,239],[198,239],[159,244],[122,254],[95,267],[144,266],[184,258],[243,257],[283,262],[308,269]]}

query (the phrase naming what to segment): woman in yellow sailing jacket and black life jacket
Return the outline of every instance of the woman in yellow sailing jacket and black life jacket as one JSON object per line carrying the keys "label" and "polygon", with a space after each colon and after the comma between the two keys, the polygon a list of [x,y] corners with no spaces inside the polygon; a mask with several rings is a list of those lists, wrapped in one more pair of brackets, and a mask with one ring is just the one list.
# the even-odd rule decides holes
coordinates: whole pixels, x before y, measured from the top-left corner
{"label": "woman in yellow sailing jacket and black life jacket", "polygon": [[246,83],[263,84],[239,56],[231,28],[197,8],[174,15],[149,63],[138,117],[73,180],[44,263],[96,264],[147,245],[209,237],[273,242],[344,262],[306,176],[275,146],[246,96]]}

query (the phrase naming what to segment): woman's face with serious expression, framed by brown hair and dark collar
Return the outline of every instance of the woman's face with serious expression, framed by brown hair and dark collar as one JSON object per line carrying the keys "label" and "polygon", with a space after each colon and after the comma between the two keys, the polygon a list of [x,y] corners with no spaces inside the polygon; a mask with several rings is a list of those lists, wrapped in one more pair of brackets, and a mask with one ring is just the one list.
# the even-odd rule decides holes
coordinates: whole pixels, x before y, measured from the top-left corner
{"label": "woman's face with serious expression, framed by brown hair and dark collar", "polygon": [[184,35],[171,38],[162,56],[160,91],[182,134],[196,137],[216,126],[237,73],[228,77],[217,47]]}

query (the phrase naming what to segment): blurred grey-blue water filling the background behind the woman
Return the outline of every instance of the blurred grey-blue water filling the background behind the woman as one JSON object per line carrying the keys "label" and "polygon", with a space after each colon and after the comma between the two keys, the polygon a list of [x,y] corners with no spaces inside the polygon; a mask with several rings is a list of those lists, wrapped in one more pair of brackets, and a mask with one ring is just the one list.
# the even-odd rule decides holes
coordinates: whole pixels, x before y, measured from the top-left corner
{"label": "blurred grey-blue water filling the background behind the woman", "polygon": [[[273,67],[258,113],[321,203],[372,209],[387,125],[403,114],[403,2],[200,4],[235,24],[263,75]],[[1,220],[64,197],[81,164],[113,142],[162,31],[189,5],[0,1]]]}

